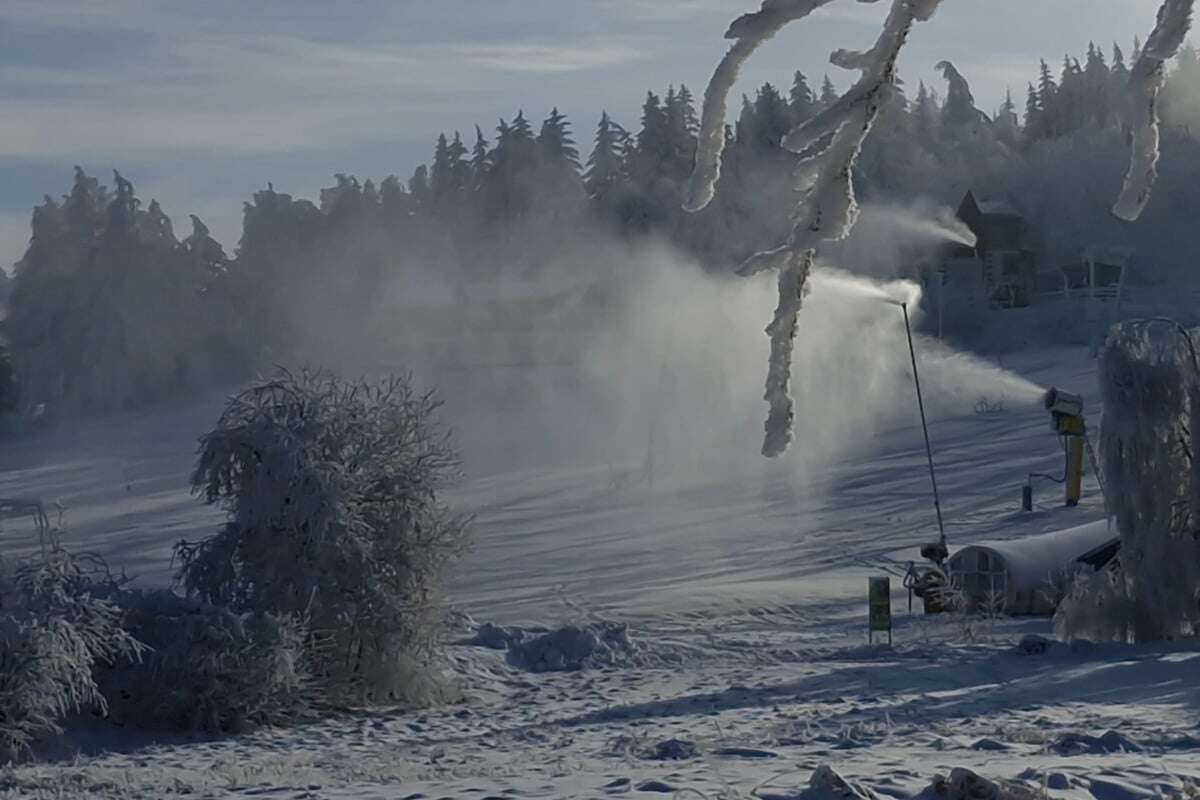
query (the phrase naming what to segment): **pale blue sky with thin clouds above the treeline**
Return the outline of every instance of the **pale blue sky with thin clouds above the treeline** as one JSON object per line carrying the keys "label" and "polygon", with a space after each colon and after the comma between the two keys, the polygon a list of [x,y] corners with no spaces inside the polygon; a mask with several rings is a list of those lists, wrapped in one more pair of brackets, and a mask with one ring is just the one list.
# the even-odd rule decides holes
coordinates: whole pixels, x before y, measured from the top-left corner
{"label": "pale blue sky with thin clouds above the treeline", "polygon": [[[0,264],[71,167],[116,167],[176,221],[199,213],[233,252],[241,201],[274,181],[312,197],[334,173],[407,178],[439,131],[485,132],[517,108],[566,113],[587,152],[600,109],[636,126],[644,91],[696,94],[728,20],[757,0],[0,0]],[[842,0],[785,31],[742,89],[814,83],[862,47],[887,4]],[[949,59],[992,110],[1037,60],[1088,41],[1128,53],[1157,0],[944,0],[901,61],[941,86]],[[180,222],[180,227],[184,225]]]}

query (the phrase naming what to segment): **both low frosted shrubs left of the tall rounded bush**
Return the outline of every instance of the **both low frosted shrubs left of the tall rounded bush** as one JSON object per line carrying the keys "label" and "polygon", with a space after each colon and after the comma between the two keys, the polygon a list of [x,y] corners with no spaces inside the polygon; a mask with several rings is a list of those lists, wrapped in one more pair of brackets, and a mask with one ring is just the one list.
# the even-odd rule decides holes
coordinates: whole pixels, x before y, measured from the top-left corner
{"label": "both low frosted shrubs left of the tall rounded bush", "polygon": [[304,628],[169,591],[128,591],[56,543],[0,561],[0,747],[10,758],[80,711],[137,728],[235,733],[304,715]]}

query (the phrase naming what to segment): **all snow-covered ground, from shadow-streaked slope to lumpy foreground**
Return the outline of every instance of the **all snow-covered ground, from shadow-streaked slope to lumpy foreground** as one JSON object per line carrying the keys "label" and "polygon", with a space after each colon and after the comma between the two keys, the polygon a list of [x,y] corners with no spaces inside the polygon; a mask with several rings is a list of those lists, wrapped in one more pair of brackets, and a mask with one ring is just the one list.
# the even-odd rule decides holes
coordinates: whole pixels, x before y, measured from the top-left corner
{"label": "all snow-covered ground, from shadow-streaked slope to lumpy foreground", "polygon": [[[1004,366],[1096,395],[1086,350]],[[1045,413],[940,402],[938,365],[929,372],[952,549],[1103,516],[1091,477],[1081,507],[1062,509],[1061,487],[1039,482],[1022,515],[1026,474],[1062,470]],[[1049,634],[1049,621],[908,614],[896,577],[895,644],[868,646],[866,578],[902,570],[936,537],[911,395],[803,470],[731,453],[716,471],[685,469],[678,441],[650,434],[624,459],[526,447],[536,420],[497,425],[456,397],[448,415],[467,475],[452,499],[476,513],[449,596],[464,703],[220,741],[109,740],[96,752],[80,740],[90,754],[5,771],[0,796],[791,798],[822,764],[888,796],[959,766],[1102,800],[1200,781],[1194,644],[1028,655],[1015,643]],[[67,545],[164,582],[172,546],[220,519],[186,488],[196,435],[218,408],[211,398],[24,439],[0,453],[0,494],[60,503]],[[2,535],[6,552],[35,546],[19,521]],[[470,644],[484,622],[624,624],[629,646],[589,669],[536,673]]]}

